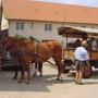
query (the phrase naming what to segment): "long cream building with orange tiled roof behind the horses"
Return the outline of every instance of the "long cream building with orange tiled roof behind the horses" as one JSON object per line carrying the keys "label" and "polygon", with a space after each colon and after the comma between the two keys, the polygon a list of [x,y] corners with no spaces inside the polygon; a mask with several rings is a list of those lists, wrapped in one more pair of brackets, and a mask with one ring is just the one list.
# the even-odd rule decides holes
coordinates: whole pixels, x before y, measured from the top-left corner
{"label": "long cream building with orange tiled roof behind the horses", "polygon": [[3,0],[2,7],[2,29],[9,28],[10,36],[63,40],[58,35],[61,26],[98,28],[98,8],[33,0]]}

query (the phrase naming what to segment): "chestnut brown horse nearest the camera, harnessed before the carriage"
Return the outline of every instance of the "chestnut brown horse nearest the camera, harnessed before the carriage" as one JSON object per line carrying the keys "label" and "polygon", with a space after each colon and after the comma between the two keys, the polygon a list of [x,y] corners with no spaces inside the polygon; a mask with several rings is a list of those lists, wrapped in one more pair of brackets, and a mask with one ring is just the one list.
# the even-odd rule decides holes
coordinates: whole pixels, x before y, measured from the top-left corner
{"label": "chestnut brown horse nearest the camera, harnessed before the carriage", "polygon": [[[23,71],[27,71],[27,82],[30,79],[30,62],[46,62],[53,58],[58,66],[58,79],[62,73],[62,48],[58,41],[48,41],[35,45],[33,40],[22,41],[13,37],[7,37],[2,41],[3,48],[13,52],[14,57],[22,62]],[[24,74],[22,75],[22,79]]]}

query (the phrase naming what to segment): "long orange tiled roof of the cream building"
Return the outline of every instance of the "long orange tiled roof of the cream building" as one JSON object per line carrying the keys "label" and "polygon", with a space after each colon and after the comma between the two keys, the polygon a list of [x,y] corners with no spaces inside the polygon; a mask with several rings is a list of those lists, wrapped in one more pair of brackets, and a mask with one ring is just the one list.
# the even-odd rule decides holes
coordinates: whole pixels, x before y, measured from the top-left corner
{"label": "long orange tiled roof of the cream building", "polygon": [[38,2],[33,0],[3,0],[8,20],[33,20],[98,24],[98,8]]}

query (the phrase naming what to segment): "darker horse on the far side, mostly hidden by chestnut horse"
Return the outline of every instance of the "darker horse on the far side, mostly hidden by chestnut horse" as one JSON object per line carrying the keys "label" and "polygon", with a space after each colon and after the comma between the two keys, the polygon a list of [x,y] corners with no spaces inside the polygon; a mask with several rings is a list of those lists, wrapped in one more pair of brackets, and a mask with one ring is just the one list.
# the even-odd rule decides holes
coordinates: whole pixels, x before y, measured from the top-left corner
{"label": "darker horse on the far side, mostly hidden by chestnut horse", "polygon": [[[1,65],[1,62],[2,62],[2,59],[3,59],[3,57],[5,57],[5,54],[8,53],[8,51],[10,52],[10,56],[13,58],[13,60],[14,60],[14,63],[16,62],[17,63],[17,65],[15,65],[14,66],[14,71],[15,71],[15,74],[14,74],[14,76],[13,76],[13,79],[16,79],[17,78],[17,71],[21,71],[21,77],[23,78],[23,74],[24,74],[24,71],[23,71],[23,69],[22,69],[22,62],[21,62],[21,58],[20,58],[20,54],[19,53],[16,53],[16,51],[17,51],[17,49],[15,50],[15,46],[12,46],[12,48],[10,48],[10,47],[4,47],[3,46],[3,41],[4,39],[1,39],[0,40],[0,65]],[[21,45],[23,45],[24,44],[24,41],[21,41],[21,40],[19,40],[19,39],[15,39],[14,38],[14,44],[17,44],[17,42],[20,42]],[[19,46],[20,47],[20,46]],[[19,51],[17,51],[19,52]],[[0,66],[0,69],[1,69],[1,66]]]}

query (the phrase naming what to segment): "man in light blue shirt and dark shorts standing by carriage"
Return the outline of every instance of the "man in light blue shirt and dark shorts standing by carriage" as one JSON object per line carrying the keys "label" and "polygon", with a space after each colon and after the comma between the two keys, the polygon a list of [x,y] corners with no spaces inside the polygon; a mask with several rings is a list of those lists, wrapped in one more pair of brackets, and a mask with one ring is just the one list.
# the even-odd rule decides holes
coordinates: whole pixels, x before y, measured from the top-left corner
{"label": "man in light blue shirt and dark shorts standing by carriage", "polygon": [[76,66],[76,81],[75,83],[81,85],[82,84],[82,77],[83,77],[83,71],[84,65],[89,65],[89,54],[86,50],[87,41],[83,40],[81,47],[77,47],[74,52],[75,57],[75,66]]}

